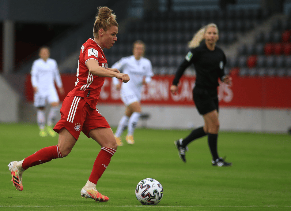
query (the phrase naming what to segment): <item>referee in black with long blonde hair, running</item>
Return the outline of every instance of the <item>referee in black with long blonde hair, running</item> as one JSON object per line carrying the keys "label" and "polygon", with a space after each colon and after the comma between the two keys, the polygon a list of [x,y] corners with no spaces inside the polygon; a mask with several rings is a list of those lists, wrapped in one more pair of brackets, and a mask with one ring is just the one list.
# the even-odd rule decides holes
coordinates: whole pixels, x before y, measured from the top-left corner
{"label": "referee in black with long blonde hair, running", "polygon": [[[222,82],[231,85],[232,78],[224,73],[226,57],[223,51],[216,46],[219,39],[216,24],[208,24],[202,27],[189,42],[190,51],[180,64],[170,91],[176,94],[178,83],[185,69],[194,64],[196,71],[196,82],[193,89],[193,100],[198,112],[203,116],[204,126],[193,130],[186,138],[175,141],[179,156],[186,162],[185,153],[187,145],[193,140],[205,135],[208,137],[208,145],[212,155],[213,166],[231,166],[217,153],[217,136],[219,131],[218,119],[218,78]],[[202,42],[202,40],[204,40]]]}

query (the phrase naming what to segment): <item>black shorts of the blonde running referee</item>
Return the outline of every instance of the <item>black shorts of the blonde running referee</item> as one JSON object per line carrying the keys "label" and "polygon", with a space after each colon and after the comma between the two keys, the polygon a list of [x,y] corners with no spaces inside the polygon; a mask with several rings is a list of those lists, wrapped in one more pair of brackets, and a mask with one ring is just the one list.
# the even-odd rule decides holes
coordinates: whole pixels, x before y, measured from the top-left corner
{"label": "black shorts of the blonde running referee", "polygon": [[214,110],[217,110],[218,112],[217,89],[208,90],[194,87],[193,100],[198,112],[201,115],[204,115]]}

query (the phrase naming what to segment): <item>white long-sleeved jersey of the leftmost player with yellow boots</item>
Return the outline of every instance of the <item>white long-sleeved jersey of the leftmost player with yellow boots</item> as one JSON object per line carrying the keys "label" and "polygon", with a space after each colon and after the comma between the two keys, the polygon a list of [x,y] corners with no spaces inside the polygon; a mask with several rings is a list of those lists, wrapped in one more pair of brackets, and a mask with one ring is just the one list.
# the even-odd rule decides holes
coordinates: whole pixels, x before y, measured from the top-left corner
{"label": "white long-sleeved jersey of the leftmost player with yellow boots", "polygon": [[48,58],[47,61],[42,58],[35,60],[31,68],[32,87],[37,87],[40,94],[49,93],[51,90],[55,90],[54,81],[58,87],[62,87],[57,62],[51,58]]}

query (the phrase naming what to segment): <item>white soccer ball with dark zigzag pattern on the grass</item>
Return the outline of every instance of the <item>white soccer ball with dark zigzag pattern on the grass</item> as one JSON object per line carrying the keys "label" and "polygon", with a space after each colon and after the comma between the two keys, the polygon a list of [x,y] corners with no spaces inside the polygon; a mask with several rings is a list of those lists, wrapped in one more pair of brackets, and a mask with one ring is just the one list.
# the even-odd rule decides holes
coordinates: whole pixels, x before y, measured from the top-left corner
{"label": "white soccer ball with dark zigzag pattern on the grass", "polygon": [[138,183],[135,196],[143,205],[157,205],[163,198],[164,190],[159,181],[146,178]]}

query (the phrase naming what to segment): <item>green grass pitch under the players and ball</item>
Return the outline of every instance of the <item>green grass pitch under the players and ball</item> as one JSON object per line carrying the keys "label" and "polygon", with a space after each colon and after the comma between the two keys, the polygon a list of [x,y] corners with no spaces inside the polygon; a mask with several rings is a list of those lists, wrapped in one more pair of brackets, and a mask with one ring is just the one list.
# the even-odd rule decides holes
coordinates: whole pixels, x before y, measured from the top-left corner
{"label": "green grass pitch under the players and ball", "polygon": [[[219,155],[233,166],[213,167],[206,137],[188,146],[183,163],[174,141],[189,130],[138,128],[136,143],[117,149],[97,183],[109,201],[96,203],[80,196],[100,151],[83,133],[68,157],[29,168],[24,190],[15,190],[9,162],[58,142],[38,132],[36,124],[0,124],[0,210],[291,210],[288,134],[220,132]],[[141,205],[135,197],[137,183],[148,177],[164,188],[156,206]]]}

